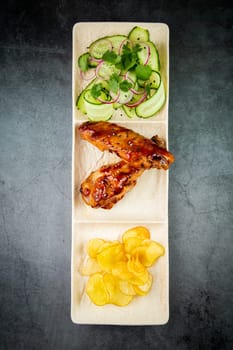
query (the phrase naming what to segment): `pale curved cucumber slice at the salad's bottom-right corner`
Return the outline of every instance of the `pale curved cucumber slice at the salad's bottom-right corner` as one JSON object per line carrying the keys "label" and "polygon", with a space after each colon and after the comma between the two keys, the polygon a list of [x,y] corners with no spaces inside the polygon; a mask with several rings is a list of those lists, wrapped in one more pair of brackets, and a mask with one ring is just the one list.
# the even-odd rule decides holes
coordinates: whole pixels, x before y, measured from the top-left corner
{"label": "pale curved cucumber slice at the salad's bottom-right corner", "polygon": [[139,106],[136,107],[135,110],[137,116],[140,118],[152,117],[164,105],[165,100],[165,89],[163,81],[161,80],[160,86],[156,93],[148,100],[142,102]]}

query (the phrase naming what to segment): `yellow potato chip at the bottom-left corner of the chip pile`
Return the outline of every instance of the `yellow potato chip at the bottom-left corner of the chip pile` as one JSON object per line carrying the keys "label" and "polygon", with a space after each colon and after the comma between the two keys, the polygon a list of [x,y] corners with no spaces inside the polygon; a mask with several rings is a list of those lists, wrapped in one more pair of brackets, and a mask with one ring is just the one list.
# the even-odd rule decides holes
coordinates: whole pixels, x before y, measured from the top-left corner
{"label": "yellow potato chip at the bottom-left corner of the chip pile", "polygon": [[95,273],[90,276],[86,286],[86,293],[97,306],[103,306],[109,302],[109,293],[101,273]]}

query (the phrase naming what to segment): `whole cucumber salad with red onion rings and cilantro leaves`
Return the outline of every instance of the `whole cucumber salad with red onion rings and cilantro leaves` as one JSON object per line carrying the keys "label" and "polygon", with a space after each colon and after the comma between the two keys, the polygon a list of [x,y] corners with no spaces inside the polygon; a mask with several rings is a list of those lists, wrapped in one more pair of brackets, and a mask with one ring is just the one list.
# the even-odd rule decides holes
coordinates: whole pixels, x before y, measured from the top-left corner
{"label": "whole cucumber salad with red onion rings and cilantro leaves", "polygon": [[89,81],[77,108],[92,121],[106,121],[122,108],[129,117],[150,118],[165,102],[159,54],[147,29],[102,37],[78,58],[81,78]]}

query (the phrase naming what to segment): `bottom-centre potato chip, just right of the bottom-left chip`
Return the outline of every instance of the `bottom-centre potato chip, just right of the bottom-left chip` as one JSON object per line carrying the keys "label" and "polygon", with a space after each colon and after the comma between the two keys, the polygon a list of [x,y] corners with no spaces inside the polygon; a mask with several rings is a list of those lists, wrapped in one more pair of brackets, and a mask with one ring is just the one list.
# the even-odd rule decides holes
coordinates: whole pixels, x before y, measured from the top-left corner
{"label": "bottom-centre potato chip, just right of the bottom-left chip", "polygon": [[117,306],[126,306],[132,301],[133,295],[126,295],[122,293],[119,287],[118,279],[112,274],[104,274],[103,281],[109,293],[110,304],[114,304]]}

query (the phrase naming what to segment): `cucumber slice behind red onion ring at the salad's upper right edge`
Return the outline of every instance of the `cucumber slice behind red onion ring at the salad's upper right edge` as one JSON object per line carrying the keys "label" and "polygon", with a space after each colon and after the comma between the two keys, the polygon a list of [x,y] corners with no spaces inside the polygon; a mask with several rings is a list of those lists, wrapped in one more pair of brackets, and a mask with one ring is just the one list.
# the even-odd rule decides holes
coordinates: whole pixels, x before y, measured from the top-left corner
{"label": "cucumber slice behind red onion ring at the salad's upper right edge", "polygon": [[149,65],[152,70],[155,70],[158,72],[160,70],[160,62],[159,62],[159,54],[158,54],[158,51],[156,49],[156,46],[151,41],[147,41],[147,42],[145,42],[145,44],[144,43],[140,44],[142,50],[138,51],[138,53],[137,53],[139,62],[141,64],[145,64],[145,62],[147,60],[147,56],[148,56],[148,48],[147,48],[147,45],[148,45],[150,48],[150,57],[149,57],[149,60],[147,62],[147,65]]}

